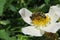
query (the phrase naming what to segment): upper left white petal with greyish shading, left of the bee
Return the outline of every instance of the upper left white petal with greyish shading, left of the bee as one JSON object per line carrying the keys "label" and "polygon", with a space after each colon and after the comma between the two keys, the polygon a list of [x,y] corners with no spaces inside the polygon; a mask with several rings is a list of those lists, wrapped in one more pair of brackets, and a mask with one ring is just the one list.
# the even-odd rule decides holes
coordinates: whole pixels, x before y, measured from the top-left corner
{"label": "upper left white petal with greyish shading, left of the bee", "polygon": [[19,10],[20,15],[22,16],[23,20],[28,23],[31,24],[31,19],[30,16],[32,14],[32,12],[30,12],[28,9],[26,8],[22,8]]}

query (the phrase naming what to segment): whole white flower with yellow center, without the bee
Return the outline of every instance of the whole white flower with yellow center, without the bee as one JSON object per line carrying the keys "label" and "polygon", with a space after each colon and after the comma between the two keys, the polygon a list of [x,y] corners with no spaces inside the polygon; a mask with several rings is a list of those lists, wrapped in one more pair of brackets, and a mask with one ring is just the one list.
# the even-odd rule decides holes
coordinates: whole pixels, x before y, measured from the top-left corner
{"label": "whole white flower with yellow center, without the bee", "polygon": [[60,22],[56,22],[60,17],[60,7],[58,7],[58,5],[50,7],[49,13],[45,14],[46,18],[43,19],[43,21],[42,19],[40,19],[40,21],[38,21],[37,19],[32,20],[30,17],[33,13],[26,8],[20,9],[19,13],[23,20],[31,25],[22,28],[22,32],[24,34],[31,36],[42,36],[45,31],[56,33],[57,30],[60,29]]}

